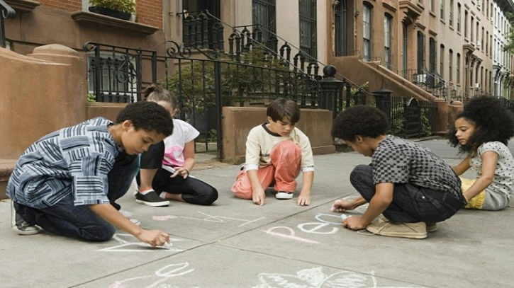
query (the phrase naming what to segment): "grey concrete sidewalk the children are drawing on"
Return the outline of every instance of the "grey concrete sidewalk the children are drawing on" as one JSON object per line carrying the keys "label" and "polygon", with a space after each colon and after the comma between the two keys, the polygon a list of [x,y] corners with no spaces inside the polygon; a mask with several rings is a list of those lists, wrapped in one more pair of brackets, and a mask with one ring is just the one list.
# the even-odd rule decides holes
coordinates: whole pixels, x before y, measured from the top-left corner
{"label": "grey concrete sidewalk the children are drawing on", "polygon": [[[445,140],[420,143],[452,165],[460,161]],[[369,158],[348,152],[314,160],[308,207],[296,206],[296,197],[269,194],[262,207],[233,197],[239,166],[232,165],[193,172],[220,192],[209,207],[147,207],[129,192],[119,201],[123,210],[143,227],[171,234],[172,246],[164,248],[123,231],[104,243],[46,232],[18,236],[9,200],[0,202],[0,287],[514,287],[512,207],[462,210],[423,240],[365,236],[343,229],[330,206],[357,196],[350,171]]]}

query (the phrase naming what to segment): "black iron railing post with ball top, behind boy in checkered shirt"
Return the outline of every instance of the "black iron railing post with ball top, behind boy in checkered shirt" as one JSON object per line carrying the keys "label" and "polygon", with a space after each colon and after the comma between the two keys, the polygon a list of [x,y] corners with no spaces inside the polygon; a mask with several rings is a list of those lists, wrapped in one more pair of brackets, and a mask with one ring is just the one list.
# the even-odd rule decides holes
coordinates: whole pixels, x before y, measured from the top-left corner
{"label": "black iron railing post with ball top, behind boy in checkered shirt", "polygon": [[343,81],[334,78],[337,69],[332,65],[323,68],[323,79],[320,80],[321,96],[319,108],[332,111],[333,118],[337,116],[337,93],[340,93]]}

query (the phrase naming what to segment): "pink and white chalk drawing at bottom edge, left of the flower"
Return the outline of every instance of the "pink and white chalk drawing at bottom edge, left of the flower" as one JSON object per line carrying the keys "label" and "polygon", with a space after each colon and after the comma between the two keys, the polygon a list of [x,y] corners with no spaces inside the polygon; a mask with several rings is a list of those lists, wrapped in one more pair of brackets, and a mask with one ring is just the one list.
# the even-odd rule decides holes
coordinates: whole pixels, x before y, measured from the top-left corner
{"label": "pink and white chalk drawing at bottom edge, left of the flower", "polygon": [[[145,287],[145,288],[179,288],[171,286],[162,282],[166,282],[172,277],[186,275],[194,271],[194,269],[186,270],[189,263],[179,263],[166,265],[159,270],[155,271],[154,275],[144,275],[139,277],[132,277],[121,281],[116,281],[109,286],[109,288],[130,288],[130,287]],[[149,284],[151,283],[151,284]],[[199,287],[191,287],[199,288]]]}

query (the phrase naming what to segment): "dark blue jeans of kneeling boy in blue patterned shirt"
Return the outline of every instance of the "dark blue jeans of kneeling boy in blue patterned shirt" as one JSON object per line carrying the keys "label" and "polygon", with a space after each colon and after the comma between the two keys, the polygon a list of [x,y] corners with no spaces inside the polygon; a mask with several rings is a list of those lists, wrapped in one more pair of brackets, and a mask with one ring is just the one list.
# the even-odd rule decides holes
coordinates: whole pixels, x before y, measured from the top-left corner
{"label": "dark blue jeans of kneeling boy in blue patterned shirt", "polygon": [[[121,206],[115,201],[125,195],[138,170],[138,156],[121,152],[108,173],[108,199],[116,209]],[[35,209],[14,203],[16,212],[28,223],[36,224],[53,234],[79,238],[85,241],[107,241],[116,229],[95,214],[88,205],[74,206],[73,195],[57,202],[52,207]]]}

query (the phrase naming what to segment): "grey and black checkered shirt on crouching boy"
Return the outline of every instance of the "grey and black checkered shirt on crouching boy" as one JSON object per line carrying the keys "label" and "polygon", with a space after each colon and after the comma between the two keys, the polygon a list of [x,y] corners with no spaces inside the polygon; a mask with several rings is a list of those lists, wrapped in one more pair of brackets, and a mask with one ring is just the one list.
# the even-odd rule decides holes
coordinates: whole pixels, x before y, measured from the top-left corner
{"label": "grey and black checkered shirt on crouching boy", "polygon": [[[427,147],[388,135],[371,156],[374,183],[410,183],[456,196],[460,180],[445,161]],[[457,197],[458,198],[458,197]]]}

